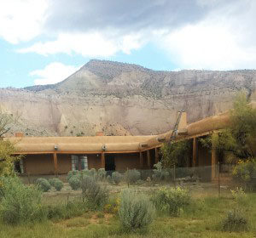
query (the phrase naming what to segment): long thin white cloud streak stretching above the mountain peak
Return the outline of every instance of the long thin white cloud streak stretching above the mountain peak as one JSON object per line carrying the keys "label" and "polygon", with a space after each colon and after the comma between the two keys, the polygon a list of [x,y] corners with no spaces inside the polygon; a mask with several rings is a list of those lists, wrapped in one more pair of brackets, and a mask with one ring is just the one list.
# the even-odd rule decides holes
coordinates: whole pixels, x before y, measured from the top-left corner
{"label": "long thin white cloud streak stretching above the mountain peak", "polygon": [[108,57],[118,51],[130,54],[132,49],[140,48],[143,42],[138,35],[106,37],[99,32],[71,34],[61,33],[55,41],[37,42],[29,48],[21,48],[20,53],[37,54],[82,54],[84,57]]}

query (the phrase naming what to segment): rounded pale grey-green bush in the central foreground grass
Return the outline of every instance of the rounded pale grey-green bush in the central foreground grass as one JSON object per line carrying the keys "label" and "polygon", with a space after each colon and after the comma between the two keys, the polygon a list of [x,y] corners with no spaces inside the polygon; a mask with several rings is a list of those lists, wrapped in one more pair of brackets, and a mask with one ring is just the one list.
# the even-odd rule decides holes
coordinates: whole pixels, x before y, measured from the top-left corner
{"label": "rounded pale grey-green bush in the central foreground grass", "polygon": [[120,195],[119,218],[125,229],[145,229],[154,218],[154,206],[146,195],[123,190]]}

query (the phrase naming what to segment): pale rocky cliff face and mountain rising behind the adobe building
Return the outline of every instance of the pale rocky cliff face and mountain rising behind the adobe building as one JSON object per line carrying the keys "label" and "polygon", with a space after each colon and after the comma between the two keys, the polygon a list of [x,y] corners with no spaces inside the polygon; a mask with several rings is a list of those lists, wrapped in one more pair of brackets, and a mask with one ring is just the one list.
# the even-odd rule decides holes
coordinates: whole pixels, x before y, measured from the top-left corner
{"label": "pale rocky cliff face and mountain rising behind the adobe building", "polygon": [[237,91],[253,97],[256,71],[152,71],[90,60],[54,85],[0,89],[0,110],[26,135],[137,135],[172,129],[177,111],[195,122],[230,109]]}

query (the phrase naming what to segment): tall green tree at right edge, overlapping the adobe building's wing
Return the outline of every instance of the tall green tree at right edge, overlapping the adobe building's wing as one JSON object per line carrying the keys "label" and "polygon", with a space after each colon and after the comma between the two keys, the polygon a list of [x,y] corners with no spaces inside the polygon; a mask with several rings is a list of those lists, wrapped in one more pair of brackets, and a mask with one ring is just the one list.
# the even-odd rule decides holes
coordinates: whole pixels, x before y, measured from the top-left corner
{"label": "tall green tree at right edge, overlapping the adobe building's wing", "polygon": [[256,156],[256,108],[249,103],[246,94],[239,93],[230,111],[229,126],[221,133],[213,133],[202,144],[224,152],[230,159],[246,160]]}

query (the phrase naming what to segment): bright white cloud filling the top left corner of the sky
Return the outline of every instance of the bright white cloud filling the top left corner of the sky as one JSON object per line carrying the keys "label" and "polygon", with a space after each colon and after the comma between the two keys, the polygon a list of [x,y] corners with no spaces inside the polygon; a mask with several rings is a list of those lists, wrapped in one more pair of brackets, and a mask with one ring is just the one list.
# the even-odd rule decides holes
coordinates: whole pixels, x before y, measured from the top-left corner
{"label": "bright white cloud filling the top left corner of the sky", "polygon": [[2,0],[0,37],[11,43],[31,40],[42,33],[48,0]]}

